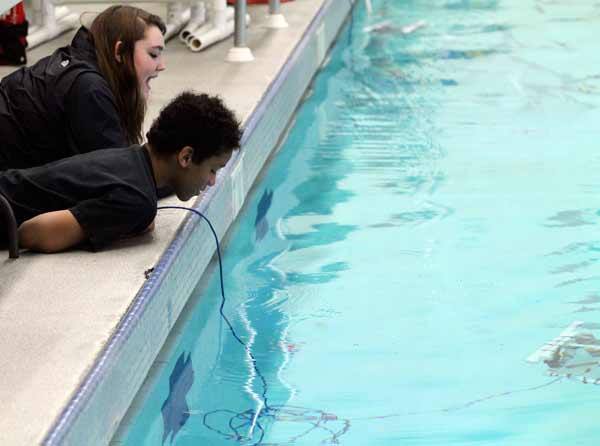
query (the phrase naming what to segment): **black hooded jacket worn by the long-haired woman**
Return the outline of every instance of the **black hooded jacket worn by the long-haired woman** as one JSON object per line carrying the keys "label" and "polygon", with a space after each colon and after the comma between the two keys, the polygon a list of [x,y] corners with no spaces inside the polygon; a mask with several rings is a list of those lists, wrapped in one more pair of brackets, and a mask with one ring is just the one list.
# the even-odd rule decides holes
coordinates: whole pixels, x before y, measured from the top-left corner
{"label": "black hooded jacket worn by the long-haired woman", "polygon": [[0,170],[128,145],[85,28],[0,82]]}

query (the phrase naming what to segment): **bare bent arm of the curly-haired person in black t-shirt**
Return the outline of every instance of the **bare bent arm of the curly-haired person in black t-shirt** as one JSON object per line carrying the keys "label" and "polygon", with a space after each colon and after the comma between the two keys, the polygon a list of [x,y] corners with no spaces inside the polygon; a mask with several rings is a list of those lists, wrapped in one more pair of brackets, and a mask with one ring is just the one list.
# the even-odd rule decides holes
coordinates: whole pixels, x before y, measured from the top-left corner
{"label": "bare bent arm of the curly-haired person in black t-shirt", "polygon": [[64,251],[85,238],[83,228],[69,210],[46,212],[19,226],[19,245],[32,251]]}

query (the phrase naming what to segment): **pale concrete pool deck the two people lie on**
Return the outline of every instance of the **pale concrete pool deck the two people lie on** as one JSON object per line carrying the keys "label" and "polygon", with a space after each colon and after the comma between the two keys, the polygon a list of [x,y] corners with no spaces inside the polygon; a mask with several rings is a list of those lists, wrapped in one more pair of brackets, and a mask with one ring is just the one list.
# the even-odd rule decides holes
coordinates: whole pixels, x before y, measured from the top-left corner
{"label": "pale concrete pool deck the two people lie on", "polygon": [[[153,81],[146,127],[184,89],[221,95],[247,124],[326,3],[331,2],[283,4],[290,26],[281,30],[263,26],[265,6],[249,7],[248,45],[255,57],[251,63],[225,62],[231,39],[201,53],[171,40],[165,51],[167,70]],[[348,7],[348,1],[342,3]],[[105,5],[88,6],[72,9],[102,10]],[[156,4],[140,6],[160,12]],[[34,49],[30,63],[68,43],[72,35]],[[1,67],[0,77],[13,69]],[[171,198],[161,204],[180,202]],[[7,251],[0,251],[0,444],[30,446],[45,441],[145,284],[144,271],[159,262],[185,217],[184,212],[161,211],[152,234],[99,253],[24,252],[9,260]]]}

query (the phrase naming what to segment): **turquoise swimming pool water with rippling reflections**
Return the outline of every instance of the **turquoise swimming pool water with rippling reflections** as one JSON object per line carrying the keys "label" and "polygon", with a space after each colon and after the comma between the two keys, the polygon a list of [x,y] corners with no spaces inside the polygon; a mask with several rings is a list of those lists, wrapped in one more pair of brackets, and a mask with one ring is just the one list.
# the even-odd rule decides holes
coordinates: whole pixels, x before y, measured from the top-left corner
{"label": "turquoise swimming pool water with rippling reflections", "polygon": [[270,409],[213,274],[123,444],[598,445],[599,26],[593,1],[357,8],[224,249]]}

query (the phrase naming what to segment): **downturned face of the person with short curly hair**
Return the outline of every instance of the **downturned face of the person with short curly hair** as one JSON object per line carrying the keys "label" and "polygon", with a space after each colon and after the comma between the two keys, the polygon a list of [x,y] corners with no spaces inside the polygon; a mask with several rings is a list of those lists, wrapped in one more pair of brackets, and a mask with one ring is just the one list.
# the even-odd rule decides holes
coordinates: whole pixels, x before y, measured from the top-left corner
{"label": "downturned face of the person with short curly hair", "polygon": [[[186,149],[184,149],[186,150]],[[232,151],[222,155],[211,156],[200,164],[195,164],[189,159],[185,159],[185,154],[180,155],[180,176],[178,184],[175,186],[175,194],[182,201],[187,201],[194,195],[198,195],[207,186],[214,186],[217,179],[217,172],[225,167],[231,159]],[[190,155],[191,156],[191,155]]]}

